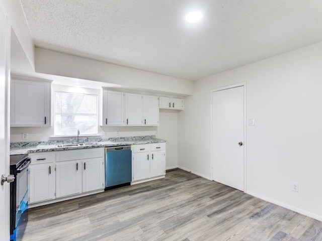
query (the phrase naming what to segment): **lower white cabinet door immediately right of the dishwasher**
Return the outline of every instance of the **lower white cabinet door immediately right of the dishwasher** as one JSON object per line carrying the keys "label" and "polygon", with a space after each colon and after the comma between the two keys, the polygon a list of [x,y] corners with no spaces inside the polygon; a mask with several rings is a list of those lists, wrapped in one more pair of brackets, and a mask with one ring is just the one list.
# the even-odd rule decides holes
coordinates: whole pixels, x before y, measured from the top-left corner
{"label": "lower white cabinet door immediately right of the dishwasher", "polygon": [[149,159],[149,152],[135,153],[133,155],[133,181],[150,177]]}

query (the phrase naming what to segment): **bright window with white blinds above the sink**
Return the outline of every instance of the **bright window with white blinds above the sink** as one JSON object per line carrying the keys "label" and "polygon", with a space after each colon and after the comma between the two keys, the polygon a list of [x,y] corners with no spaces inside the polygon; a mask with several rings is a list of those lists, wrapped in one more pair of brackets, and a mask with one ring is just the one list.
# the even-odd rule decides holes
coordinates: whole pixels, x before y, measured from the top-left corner
{"label": "bright window with white blinds above the sink", "polygon": [[98,95],[54,92],[54,136],[75,136],[98,133]]}

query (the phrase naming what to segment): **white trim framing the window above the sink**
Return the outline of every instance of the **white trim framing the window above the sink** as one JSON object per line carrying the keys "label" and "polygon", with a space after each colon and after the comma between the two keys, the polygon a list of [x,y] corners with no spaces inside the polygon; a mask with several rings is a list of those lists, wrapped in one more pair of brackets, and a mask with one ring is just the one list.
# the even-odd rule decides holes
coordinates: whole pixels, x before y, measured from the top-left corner
{"label": "white trim framing the window above the sink", "polygon": [[[99,127],[100,127],[100,119],[101,119],[101,91],[99,89],[91,89],[91,88],[83,88],[83,87],[74,87],[74,86],[67,86],[67,85],[58,85],[58,84],[52,84],[51,86],[51,123],[52,123],[52,128],[55,128],[54,124],[54,119],[55,119],[55,91],[60,91],[60,92],[70,92],[70,93],[77,93],[77,94],[94,94],[97,95],[97,132],[99,132]],[[53,134],[55,131],[53,130]],[[79,137],[99,137],[100,134],[92,134],[92,135],[82,135],[79,134]],[[77,137],[77,134],[75,135],[66,135],[66,136],[51,136],[51,138],[68,138],[68,137]]]}

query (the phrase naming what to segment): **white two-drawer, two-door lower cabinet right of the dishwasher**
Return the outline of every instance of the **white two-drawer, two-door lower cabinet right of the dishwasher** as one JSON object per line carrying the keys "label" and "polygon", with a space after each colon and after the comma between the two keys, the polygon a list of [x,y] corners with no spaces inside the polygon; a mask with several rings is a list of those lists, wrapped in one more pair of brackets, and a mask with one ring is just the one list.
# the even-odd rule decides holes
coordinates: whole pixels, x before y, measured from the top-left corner
{"label": "white two-drawer, two-door lower cabinet right of the dishwasher", "polygon": [[166,143],[132,146],[132,181],[166,175]]}

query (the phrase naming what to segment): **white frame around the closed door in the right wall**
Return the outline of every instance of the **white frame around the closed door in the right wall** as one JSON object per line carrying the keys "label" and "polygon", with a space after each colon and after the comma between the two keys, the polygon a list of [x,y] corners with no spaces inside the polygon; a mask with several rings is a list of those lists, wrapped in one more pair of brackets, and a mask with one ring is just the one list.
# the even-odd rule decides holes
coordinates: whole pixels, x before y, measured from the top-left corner
{"label": "white frame around the closed door in the right wall", "polygon": [[[241,82],[237,84],[232,84],[232,85],[226,85],[223,87],[215,88],[212,89],[210,92],[210,147],[213,146],[213,139],[212,139],[212,94],[213,92],[217,92],[220,90],[226,90],[226,89],[231,89],[231,88],[236,88],[236,87],[244,87],[244,192],[247,193],[247,82]],[[210,151],[210,176],[211,180],[214,180],[213,177],[213,157],[212,157],[212,150],[211,148],[209,149]]]}

